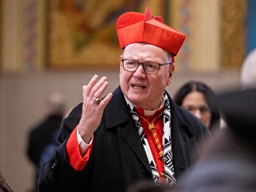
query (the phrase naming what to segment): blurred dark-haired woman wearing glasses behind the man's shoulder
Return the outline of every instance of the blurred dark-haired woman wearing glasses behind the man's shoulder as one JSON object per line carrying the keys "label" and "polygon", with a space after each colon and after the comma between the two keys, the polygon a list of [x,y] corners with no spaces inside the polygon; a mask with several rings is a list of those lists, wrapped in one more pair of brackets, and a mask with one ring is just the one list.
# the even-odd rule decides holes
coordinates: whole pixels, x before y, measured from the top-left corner
{"label": "blurred dark-haired woman wearing glasses behind the man's shoulder", "polygon": [[213,90],[202,82],[190,81],[180,87],[174,101],[193,113],[211,131],[219,129],[220,115],[218,108],[210,102],[215,97]]}

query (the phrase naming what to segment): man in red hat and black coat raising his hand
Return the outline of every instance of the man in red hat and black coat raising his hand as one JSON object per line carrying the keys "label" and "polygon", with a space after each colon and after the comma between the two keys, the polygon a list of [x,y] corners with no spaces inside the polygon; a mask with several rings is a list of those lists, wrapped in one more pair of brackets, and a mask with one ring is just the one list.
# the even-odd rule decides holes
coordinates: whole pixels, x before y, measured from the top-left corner
{"label": "man in red hat and black coat raising his hand", "polygon": [[40,191],[126,191],[145,179],[173,185],[208,133],[165,91],[185,35],[148,8],[119,16],[116,32],[124,49],[120,87],[104,99],[106,77],[83,87],[84,103],[63,122],[63,143],[41,171]]}

